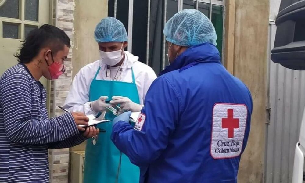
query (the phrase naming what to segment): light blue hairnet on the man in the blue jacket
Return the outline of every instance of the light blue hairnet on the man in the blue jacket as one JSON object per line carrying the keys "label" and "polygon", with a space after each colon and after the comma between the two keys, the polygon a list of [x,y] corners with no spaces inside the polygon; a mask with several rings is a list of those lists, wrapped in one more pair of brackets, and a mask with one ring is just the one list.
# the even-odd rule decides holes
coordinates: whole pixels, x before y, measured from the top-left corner
{"label": "light blue hairnet on the man in the blue jacket", "polygon": [[202,43],[217,45],[217,35],[212,22],[196,9],[176,13],[165,24],[166,40],[180,46],[195,46]]}

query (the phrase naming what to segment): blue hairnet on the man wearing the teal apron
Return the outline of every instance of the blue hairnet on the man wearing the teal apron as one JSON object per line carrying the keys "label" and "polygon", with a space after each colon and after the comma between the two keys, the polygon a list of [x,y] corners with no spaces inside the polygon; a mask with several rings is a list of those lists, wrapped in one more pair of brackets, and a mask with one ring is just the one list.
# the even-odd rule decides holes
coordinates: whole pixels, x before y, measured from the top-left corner
{"label": "blue hairnet on the man wearing the teal apron", "polygon": [[123,23],[113,17],[106,17],[97,24],[94,31],[94,38],[98,43],[128,41],[127,32]]}

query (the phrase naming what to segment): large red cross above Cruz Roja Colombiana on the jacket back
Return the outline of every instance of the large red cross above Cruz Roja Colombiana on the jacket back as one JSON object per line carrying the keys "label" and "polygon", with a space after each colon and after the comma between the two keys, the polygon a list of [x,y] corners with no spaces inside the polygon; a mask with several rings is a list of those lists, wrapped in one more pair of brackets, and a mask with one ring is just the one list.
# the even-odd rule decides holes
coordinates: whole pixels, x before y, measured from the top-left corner
{"label": "large red cross above Cruz Roja Colombiana on the jacket back", "polygon": [[222,128],[228,128],[228,138],[234,137],[234,129],[239,128],[239,119],[233,118],[233,109],[228,109],[228,118],[222,118]]}

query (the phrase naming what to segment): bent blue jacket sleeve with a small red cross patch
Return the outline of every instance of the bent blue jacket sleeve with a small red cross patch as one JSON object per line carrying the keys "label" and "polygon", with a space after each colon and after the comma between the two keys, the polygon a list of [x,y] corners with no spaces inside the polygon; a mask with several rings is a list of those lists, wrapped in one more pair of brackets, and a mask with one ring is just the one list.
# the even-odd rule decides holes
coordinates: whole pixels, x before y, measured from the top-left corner
{"label": "bent blue jacket sleeve with a small red cross patch", "polygon": [[[135,128],[119,121],[113,126],[111,139],[131,163],[141,166],[156,160],[167,147],[168,137],[175,129],[180,109],[179,95],[164,77],[149,88],[142,109],[142,121]],[[145,117],[145,119],[144,119]]]}

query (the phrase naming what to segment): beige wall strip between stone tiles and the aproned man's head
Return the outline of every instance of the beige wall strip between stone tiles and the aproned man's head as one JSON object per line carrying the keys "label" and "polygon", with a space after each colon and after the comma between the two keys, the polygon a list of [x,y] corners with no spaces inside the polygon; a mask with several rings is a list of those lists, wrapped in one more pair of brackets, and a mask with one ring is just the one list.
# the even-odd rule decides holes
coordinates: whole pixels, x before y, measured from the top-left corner
{"label": "beige wall strip between stone tiles and the aproned man's head", "polygon": [[95,26],[108,15],[108,0],[74,0],[74,48],[72,78],[86,64],[99,59]]}

